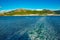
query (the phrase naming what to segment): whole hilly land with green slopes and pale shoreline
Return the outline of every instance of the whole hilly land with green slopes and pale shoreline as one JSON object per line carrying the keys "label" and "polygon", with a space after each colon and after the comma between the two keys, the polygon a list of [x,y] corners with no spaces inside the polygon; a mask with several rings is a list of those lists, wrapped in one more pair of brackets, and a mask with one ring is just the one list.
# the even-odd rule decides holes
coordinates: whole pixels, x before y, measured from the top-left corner
{"label": "whole hilly land with green slopes and pale shoreline", "polygon": [[8,12],[0,13],[0,16],[60,16],[60,10],[29,10],[16,9]]}

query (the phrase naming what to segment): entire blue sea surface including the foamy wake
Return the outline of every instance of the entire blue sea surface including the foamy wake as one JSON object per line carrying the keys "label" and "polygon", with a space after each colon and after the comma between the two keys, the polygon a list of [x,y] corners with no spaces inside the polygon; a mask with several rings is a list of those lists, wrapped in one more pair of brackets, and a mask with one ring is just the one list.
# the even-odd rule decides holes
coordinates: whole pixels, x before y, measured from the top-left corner
{"label": "entire blue sea surface including the foamy wake", "polygon": [[0,40],[60,40],[60,17],[0,16]]}

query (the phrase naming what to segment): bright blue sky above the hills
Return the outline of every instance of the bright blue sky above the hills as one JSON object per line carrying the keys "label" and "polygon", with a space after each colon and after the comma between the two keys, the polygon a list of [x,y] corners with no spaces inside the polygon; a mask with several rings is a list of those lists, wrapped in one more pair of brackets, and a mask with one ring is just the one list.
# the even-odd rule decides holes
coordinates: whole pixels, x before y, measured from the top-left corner
{"label": "bright blue sky above the hills", "polygon": [[0,10],[17,8],[60,10],[60,0],[0,0]]}

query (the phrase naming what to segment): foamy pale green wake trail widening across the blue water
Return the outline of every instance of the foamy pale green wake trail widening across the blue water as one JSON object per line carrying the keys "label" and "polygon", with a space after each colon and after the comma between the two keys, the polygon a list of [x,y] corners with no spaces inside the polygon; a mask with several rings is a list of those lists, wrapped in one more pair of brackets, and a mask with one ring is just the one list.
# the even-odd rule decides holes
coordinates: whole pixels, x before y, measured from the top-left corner
{"label": "foamy pale green wake trail widening across the blue water", "polygon": [[39,19],[35,29],[29,32],[31,40],[58,40],[55,34],[56,31],[46,17]]}

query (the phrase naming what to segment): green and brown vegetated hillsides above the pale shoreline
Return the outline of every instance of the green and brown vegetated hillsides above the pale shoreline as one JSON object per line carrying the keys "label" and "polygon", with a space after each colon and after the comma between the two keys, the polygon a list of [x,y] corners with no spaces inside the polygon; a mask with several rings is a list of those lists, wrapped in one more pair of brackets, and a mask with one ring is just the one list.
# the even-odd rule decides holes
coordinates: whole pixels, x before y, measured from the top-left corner
{"label": "green and brown vegetated hillsides above the pale shoreline", "polygon": [[13,15],[48,15],[48,14],[57,14],[60,13],[60,11],[51,11],[51,10],[26,10],[26,9],[19,9],[19,10],[13,10],[9,12],[0,13],[0,16],[13,16]]}

